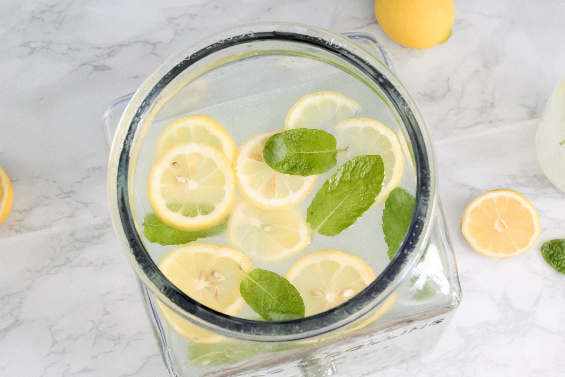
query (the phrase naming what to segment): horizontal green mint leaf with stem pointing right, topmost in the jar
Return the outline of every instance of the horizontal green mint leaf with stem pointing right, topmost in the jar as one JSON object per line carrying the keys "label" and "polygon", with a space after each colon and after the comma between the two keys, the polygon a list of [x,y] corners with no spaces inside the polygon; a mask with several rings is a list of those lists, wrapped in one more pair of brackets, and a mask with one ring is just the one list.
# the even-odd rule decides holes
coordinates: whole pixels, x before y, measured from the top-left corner
{"label": "horizontal green mint leaf with stem pointing right, topmost in the jar", "polygon": [[322,174],[336,165],[336,138],[321,129],[295,128],[265,142],[263,158],[274,170],[293,175]]}

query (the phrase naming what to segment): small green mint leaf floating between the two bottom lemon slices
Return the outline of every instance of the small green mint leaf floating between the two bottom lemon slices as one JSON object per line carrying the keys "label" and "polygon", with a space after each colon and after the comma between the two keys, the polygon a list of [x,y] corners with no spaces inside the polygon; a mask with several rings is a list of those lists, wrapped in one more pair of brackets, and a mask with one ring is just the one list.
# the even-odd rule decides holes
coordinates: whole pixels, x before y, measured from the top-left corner
{"label": "small green mint leaf floating between the two bottom lemon slices", "polygon": [[255,313],[266,320],[304,317],[304,301],[294,285],[275,272],[255,270],[241,281],[240,292]]}

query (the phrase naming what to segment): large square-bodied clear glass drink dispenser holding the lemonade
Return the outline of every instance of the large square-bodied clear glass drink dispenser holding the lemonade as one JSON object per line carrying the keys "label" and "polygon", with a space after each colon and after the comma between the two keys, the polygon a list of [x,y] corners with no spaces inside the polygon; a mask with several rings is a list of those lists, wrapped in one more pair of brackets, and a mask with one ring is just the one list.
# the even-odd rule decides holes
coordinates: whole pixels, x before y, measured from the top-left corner
{"label": "large square-bodied clear glass drink dispenser holding the lemonade", "polygon": [[[306,81],[362,93],[396,133],[414,172],[406,183],[415,194],[410,226],[373,283],[340,306],[281,322],[218,313],[160,272],[162,255],[151,252],[142,235],[136,175],[146,170],[144,140],[163,120],[242,97],[282,98],[277,91]],[[164,62],[136,93],[114,101],[105,114],[105,136],[112,220],[171,376],[371,375],[431,350],[459,304],[432,142],[386,51],[370,34],[260,23],[203,38]],[[205,341],[194,341],[199,334]]]}

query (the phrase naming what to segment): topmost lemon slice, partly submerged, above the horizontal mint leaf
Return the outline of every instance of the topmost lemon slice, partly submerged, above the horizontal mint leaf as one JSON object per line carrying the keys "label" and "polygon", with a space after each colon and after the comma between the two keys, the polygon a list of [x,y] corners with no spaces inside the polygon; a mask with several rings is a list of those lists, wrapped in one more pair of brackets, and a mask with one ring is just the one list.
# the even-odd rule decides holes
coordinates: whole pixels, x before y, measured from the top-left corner
{"label": "topmost lemon slice, partly submerged, above the horizontal mint leaf", "polygon": [[308,94],[298,100],[286,115],[284,129],[318,128],[328,131],[341,120],[361,111],[361,105],[338,92]]}

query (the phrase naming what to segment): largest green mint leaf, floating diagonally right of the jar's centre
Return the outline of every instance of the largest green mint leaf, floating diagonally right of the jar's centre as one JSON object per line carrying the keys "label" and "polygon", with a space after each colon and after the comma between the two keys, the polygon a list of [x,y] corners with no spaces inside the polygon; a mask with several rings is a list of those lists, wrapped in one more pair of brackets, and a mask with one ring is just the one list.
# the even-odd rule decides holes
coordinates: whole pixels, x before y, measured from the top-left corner
{"label": "largest green mint leaf, floating diagonally right of the jar's centre", "polygon": [[308,206],[306,220],[315,232],[335,236],[357,221],[383,188],[383,159],[357,156],[324,182]]}

